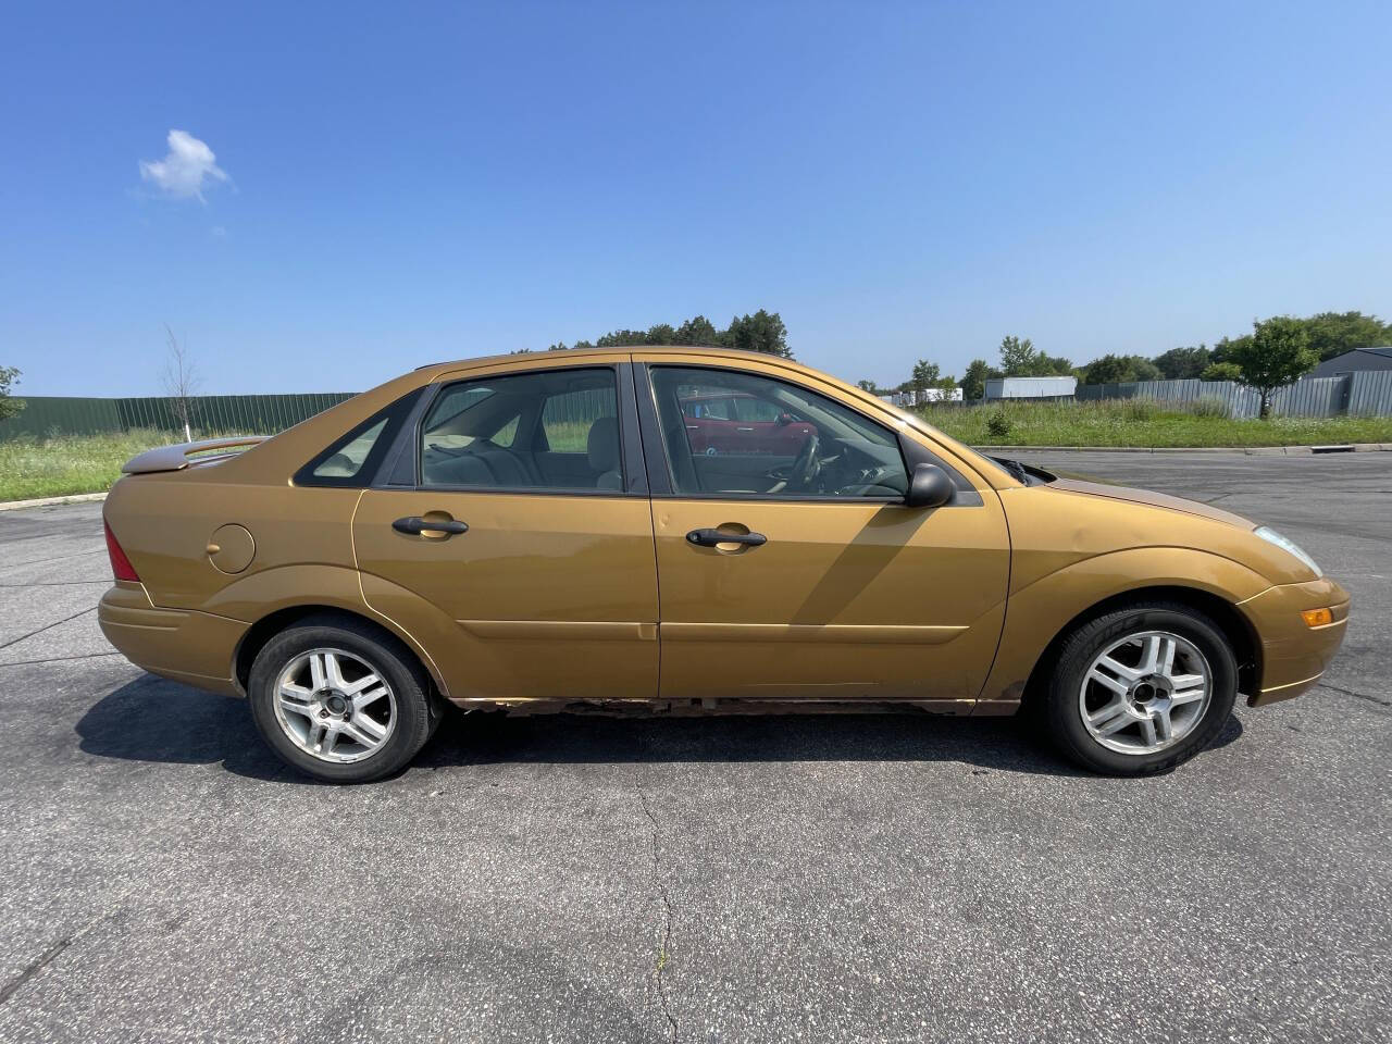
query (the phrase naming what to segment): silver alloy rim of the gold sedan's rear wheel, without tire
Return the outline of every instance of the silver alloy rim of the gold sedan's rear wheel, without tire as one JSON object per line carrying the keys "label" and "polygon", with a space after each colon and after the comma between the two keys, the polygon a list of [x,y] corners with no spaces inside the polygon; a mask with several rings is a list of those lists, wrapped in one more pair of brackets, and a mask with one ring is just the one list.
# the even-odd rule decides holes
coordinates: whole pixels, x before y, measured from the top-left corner
{"label": "silver alloy rim of the gold sedan's rear wheel, without tire", "polygon": [[319,761],[363,761],[397,729],[397,696],[381,672],[345,649],[301,653],[276,678],[276,721]]}

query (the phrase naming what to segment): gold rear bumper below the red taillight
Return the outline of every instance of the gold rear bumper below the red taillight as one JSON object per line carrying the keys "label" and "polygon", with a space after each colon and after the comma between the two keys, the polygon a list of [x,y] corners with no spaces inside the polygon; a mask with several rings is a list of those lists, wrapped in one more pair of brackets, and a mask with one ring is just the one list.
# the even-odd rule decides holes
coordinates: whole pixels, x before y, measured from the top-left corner
{"label": "gold rear bumper below the red taillight", "polygon": [[237,643],[248,624],[193,610],[156,608],[139,583],[117,582],[96,610],[106,640],[150,674],[228,696]]}

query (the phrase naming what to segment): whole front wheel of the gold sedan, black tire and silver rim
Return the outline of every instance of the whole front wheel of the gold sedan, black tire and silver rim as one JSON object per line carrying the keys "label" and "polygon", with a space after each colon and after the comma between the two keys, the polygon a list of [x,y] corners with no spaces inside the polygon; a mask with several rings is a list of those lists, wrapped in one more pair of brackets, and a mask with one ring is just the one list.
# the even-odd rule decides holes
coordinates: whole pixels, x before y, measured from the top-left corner
{"label": "whole front wheel of the gold sedan, black tire and silver rim", "polygon": [[1182,603],[1146,603],[1082,624],[1063,640],[1044,724],[1075,764],[1151,775],[1208,746],[1236,696],[1237,660],[1222,628]]}

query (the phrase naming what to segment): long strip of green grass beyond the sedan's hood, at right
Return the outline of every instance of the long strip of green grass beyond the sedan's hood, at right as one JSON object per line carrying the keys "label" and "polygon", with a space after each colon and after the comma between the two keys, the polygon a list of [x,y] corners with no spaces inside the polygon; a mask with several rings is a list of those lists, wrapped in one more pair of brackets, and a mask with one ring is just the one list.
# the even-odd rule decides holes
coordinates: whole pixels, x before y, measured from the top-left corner
{"label": "long strip of green grass beyond the sedan's hood, at right", "polygon": [[1392,443],[1392,418],[1272,418],[1233,420],[1212,401],[1008,401],[926,406],[934,427],[969,445],[1328,445]]}

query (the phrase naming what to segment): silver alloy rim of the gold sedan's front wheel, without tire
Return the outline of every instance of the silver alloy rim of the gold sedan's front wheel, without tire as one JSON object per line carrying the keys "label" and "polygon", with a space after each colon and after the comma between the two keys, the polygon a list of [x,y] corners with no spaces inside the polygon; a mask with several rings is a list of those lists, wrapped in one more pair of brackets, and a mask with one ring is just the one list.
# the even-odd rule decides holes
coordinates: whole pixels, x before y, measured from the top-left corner
{"label": "silver alloy rim of the gold sedan's front wheel, without tire", "polygon": [[1212,688],[1212,670],[1193,642],[1168,631],[1139,631],[1093,658],[1077,710],[1089,735],[1108,750],[1154,754],[1199,727]]}

